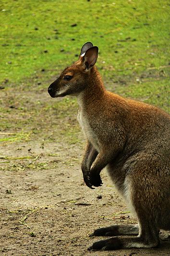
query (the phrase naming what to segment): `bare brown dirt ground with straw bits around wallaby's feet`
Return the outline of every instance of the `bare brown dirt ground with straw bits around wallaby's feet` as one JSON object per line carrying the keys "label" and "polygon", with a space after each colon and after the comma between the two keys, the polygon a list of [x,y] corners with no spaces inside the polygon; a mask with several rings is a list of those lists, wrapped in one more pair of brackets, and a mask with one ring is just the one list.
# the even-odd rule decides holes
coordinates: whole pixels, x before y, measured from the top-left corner
{"label": "bare brown dirt ground with straw bits around wallaby's feet", "polygon": [[[101,174],[102,187],[91,190],[85,186],[81,173],[84,137],[77,132],[82,143],[66,142],[61,135],[62,119],[41,110],[52,100],[45,89],[39,96],[29,91],[16,92],[15,88],[1,90],[0,94],[4,109],[11,108],[10,99],[14,99],[10,112],[1,114],[2,119],[6,117],[14,124],[0,131],[1,138],[21,132],[24,122],[28,127],[33,115],[27,131],[39,129],[33,137],[0,144],[0,255],[170,255],[170,232],[162,232],[159,248],[87,251],[100,239],[89,237],[94,229],[136,220],[116,194],[106,171]],[[25,114],[19,108],[23,99]],[[37,101],[40,103],[34,114]],[[74,113],[73,116],[71,120],[68,116],[64,119],[76,122]]]}

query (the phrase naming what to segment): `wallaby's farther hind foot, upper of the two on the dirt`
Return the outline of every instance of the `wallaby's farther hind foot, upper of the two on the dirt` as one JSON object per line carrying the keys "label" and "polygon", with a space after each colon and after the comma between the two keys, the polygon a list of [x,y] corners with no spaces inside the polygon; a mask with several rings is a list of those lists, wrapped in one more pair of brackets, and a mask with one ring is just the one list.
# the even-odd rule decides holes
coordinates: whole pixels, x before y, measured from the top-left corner
{"label": "wallaby's farther hind foot, upper of the two on the dirt", "polygon": [[138,225],[113,225],[95,230],[90,236],[138,235]]}

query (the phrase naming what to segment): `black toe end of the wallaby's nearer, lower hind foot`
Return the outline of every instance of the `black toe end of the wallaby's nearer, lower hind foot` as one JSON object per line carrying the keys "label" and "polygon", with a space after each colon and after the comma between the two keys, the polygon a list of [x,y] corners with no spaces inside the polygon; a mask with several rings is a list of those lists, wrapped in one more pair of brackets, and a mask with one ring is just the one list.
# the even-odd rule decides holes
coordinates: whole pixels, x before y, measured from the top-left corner
{"label": "black toe end of the wallaby's nearer, lower hind foot", "polygon": [[122,248],[122,243],[118,237],[113,237],[106,240],[97,241],[88,247],[88,251],[91,250],[102,250],[102,251],[110,251],[117,250]]}

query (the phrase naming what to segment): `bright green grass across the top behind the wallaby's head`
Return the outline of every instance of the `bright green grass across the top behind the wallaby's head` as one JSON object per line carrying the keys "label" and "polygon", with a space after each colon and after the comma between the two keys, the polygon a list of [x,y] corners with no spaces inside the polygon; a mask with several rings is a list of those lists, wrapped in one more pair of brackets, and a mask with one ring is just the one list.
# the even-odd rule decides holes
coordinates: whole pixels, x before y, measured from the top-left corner
{"label": "bright green grass across the top behind the wallaby's head", "polygon": [[86,41],[99,47],[106,77],[169,64],[168,0],[3,0],[0,11],[1,82],[58,73]]}

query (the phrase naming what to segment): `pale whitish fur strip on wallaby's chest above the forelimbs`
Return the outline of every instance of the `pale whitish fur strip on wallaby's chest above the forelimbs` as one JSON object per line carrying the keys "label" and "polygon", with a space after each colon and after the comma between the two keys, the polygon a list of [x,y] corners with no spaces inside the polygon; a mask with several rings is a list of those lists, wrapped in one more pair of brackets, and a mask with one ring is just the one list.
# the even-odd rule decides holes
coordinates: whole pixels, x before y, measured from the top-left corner
{"label": "pale whitish fur strip on wallaby's chest above the forelimbs", "polygon": [[90,125],[90,122],[86,114],[81,109],[78,110],[77,119],[85,134],[85,137],[91,142],[91,144],[99,152],[99,142],[98,142],[97,134],[95,133],[92,126]]}

